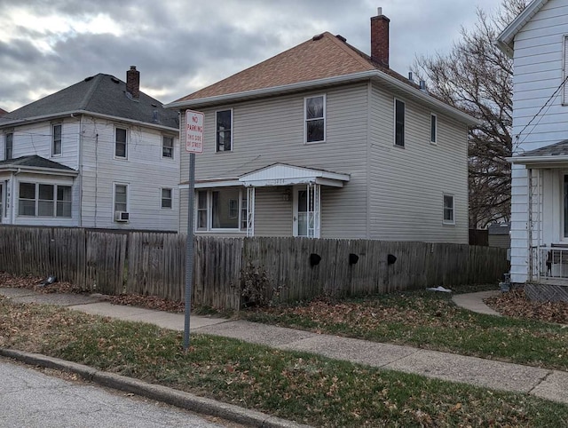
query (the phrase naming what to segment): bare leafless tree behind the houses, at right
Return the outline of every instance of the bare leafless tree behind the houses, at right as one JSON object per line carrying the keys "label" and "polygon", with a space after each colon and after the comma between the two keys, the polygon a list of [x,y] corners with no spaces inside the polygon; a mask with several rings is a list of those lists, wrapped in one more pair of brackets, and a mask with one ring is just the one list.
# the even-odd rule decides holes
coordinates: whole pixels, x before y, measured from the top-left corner
{"label": "bare leafless tree behind the houses, at right", "polygon": [[461,29],[461,40],[446,55],[420,57],[414,73],[429,91],[476,117],[469,131],[469,227],[484,228],[510,216],[513,64],[493,43],[527,0],[502,0],[488,16],[477,9],[475,28]]}

